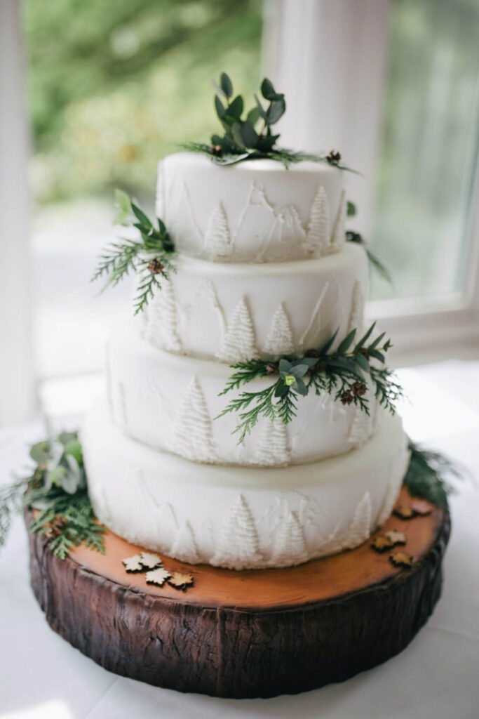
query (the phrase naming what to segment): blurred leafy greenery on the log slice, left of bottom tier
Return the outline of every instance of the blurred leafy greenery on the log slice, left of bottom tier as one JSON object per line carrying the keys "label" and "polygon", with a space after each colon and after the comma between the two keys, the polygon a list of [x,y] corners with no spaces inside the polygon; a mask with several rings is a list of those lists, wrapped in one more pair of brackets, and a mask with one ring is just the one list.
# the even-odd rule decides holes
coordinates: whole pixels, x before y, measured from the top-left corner
{"label": "blurred leafy greenery on the log slice, left of bottom tier", "polygon": [[65,559],[83,542],[103,554],[104,528],[96,522],[88,498],[78,433],[62,432],[33,444],[30,459],[34,469],[29,476],[0,487],[0,546],[11,516],[27,506],[34,510],[30,531],[44,534],[56,557]]}

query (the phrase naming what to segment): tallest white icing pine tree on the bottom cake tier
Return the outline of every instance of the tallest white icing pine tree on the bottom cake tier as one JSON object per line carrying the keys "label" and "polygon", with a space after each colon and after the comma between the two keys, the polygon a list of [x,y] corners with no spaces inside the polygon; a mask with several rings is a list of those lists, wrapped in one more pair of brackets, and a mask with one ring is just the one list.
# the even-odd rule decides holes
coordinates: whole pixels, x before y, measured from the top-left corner
{"label": "tallest white icing pine tree on the bottom cake tier", "polygon": [[223,521],[211,564],[214,567],[247,569],[263,562],[253,516],[243,495],[238,495]]}

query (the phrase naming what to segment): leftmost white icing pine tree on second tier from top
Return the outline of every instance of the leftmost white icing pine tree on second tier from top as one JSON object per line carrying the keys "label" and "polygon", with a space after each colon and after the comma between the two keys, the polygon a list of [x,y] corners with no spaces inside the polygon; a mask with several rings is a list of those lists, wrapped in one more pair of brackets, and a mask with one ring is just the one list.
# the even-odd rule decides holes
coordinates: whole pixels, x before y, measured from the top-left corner
{"label": "leftmost white icing pine tree on second tier from top", "polygon": [[177,305],[171,282],[162,283],[154,301],[147,307],[147,324],[144,338],[168,352],[180,352],[181,341],[177,332]]}

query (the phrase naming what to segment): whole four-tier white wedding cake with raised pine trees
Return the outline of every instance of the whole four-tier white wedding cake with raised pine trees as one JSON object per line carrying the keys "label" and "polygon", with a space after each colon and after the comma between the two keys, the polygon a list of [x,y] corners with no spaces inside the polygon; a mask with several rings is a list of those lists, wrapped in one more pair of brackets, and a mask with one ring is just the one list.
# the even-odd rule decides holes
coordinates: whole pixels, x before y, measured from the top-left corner
{"label": "whole four-tier white wedding cake with raised pine trees", "polygon": [[371,383],[368,412],[310,392],[289,423],[261,417],[239,443],[236,414],[218,417],[231,365],[363,331],[368,260],[345,242],[344,171],[179,152],[159,163],[156,214],[177,272],[108,344],[107,397],[83,434],[98,519],[169,557],[231,569],[353,549],[391,514],[407,462],[401,420]]}

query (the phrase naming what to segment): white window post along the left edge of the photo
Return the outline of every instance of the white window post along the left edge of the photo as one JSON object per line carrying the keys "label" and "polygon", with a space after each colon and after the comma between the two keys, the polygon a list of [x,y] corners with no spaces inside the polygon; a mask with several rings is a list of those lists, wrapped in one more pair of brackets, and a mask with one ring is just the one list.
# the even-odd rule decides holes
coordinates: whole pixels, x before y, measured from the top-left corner
{"label": "white window post along the left edge of the photo", "polygon": [[34,415],[29,155],[20,4],[0,1],[0,426]]}

